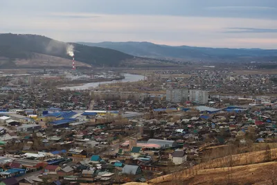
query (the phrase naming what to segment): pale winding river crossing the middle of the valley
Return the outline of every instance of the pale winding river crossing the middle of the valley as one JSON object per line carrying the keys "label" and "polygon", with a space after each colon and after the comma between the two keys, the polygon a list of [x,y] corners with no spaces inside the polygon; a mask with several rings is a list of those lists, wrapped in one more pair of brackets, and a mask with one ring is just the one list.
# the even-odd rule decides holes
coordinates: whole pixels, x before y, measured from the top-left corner
{"label": "pale winding river crossing the middle of the valley", "polygon": [[137,82],[139,80],[143,80],[144,76],[141,75],[135,75],[135,74],[130,74],[130,73],[123,73],[123,76],[125,76],[124,79],[122,80],[113,80],[113,81],[107,81],[107,82],[91,82],[91,83],[86,83],[84,85],[79,85],[79,86],[73,86],[73,87],[60,87],[59,89],[64,89],[64,90],[86,90],[86,89],[91,89],[94,87],[98,87],[99,85],[102,84],[110,84],[110,83],[115,83],[115,82]]}

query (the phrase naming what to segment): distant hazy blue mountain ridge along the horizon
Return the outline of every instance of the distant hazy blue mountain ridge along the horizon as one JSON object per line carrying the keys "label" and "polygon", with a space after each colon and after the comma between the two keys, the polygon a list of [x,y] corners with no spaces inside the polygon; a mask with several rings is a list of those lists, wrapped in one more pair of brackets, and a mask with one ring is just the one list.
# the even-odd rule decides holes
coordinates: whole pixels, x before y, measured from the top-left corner
{"label": "distant hazy blue mountain ridge along the horizon", "polygon": [[203,60],[277,60],[277,50],[220,49],[193,46],[166,46],[150,42],[78,42],[87,46],[115,49],[129,55],[150,58],[182,58]]}

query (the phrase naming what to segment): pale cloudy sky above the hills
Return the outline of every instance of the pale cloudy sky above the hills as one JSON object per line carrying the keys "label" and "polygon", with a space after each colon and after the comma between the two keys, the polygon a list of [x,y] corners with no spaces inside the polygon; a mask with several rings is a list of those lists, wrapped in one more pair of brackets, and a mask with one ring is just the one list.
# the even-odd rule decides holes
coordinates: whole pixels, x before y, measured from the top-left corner
{"label": "pale cloudy sky above the hills", "polygon": [[277,49],[277,0],[0,0],[0,33]]}

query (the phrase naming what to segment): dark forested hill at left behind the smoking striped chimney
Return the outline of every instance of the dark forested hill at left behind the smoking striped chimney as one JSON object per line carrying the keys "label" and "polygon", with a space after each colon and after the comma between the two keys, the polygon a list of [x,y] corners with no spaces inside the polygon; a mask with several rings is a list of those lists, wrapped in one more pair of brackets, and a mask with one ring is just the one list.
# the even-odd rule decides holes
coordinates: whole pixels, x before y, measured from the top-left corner
{"label": "dark forested hill at left behind the smoking striped chimney", "polygon": [[89,65],[117,67],[124,60],[134,58],[132,55],[112,49],[59,42],[41,35],[4,33],[0,34],[0,40],[1,64],[8,67],[16,67],[15,60],[30,60],[37,54],[71,60],[71,57],[66,55],[66,47],[69,44],[74,46],[75,60]]}

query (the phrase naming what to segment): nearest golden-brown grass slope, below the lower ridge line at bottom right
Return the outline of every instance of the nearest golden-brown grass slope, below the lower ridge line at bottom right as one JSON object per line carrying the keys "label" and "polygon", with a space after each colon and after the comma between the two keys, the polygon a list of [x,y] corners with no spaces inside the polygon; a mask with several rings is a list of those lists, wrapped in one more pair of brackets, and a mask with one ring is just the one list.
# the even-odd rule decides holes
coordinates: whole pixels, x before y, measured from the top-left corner
{"label": "nearest golden-brown grass slope, below the lower ridge line at bottom right", "polygon": [[277,167],[276,162],[235,166],[233,168],[214,168],[198,170],[197,174],[175,173],[150,180],[149,184],[265,184],[271,179],[270,170]]}

